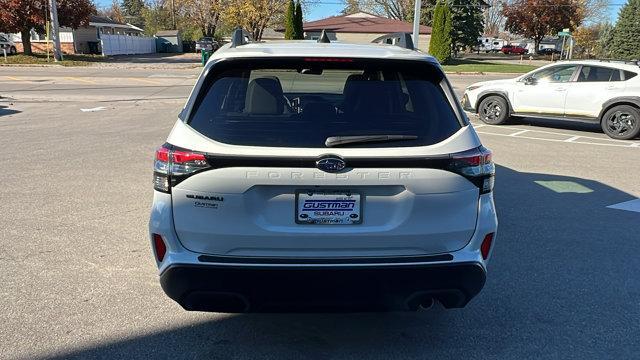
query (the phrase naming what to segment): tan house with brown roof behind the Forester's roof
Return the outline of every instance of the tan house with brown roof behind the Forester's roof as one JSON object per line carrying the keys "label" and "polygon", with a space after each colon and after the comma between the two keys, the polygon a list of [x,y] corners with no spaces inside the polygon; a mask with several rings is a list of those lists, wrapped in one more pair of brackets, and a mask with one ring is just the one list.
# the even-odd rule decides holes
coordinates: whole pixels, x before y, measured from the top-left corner
{"label": "tan house with brown roof behind the Forester's roof", "polygon": [[[377,16],[366,12],[349,15],[332,16],[326,19],[310,21],[303,24],[305,38],[316,40],[325,30],[330,40],[350,43],[370,43],[374,39],[390,33],[412,33],[413,24]],[[423,51],[429,49],[431,28],[420,26],[418,48]]]}

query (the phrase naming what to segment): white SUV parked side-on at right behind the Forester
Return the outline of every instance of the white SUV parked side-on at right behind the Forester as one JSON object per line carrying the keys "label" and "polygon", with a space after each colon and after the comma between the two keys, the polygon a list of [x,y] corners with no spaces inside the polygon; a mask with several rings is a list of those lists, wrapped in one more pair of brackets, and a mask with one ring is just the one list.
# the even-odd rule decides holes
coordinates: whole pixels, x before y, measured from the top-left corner
{"label": "white SUV parked side-on at right behind the Forester", "polygon": [[463,108],[487,124],[530,116],[600,123],[605,134],[640,134],[640,67],[624,61],[562,61],[515,79],[467,87]]}

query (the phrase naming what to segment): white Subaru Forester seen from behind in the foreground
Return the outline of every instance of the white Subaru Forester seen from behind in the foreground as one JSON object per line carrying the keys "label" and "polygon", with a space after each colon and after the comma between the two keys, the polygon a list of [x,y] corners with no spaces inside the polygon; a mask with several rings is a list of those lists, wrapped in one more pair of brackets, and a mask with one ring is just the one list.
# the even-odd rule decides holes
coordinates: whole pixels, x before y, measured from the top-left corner
{"label": "white Subaru Forester seen from behind in the foreground", "polygon": [[493,183],[432,57],[236,32],[156,152],[149,235],[187,310],[462,307],[485,282]]}

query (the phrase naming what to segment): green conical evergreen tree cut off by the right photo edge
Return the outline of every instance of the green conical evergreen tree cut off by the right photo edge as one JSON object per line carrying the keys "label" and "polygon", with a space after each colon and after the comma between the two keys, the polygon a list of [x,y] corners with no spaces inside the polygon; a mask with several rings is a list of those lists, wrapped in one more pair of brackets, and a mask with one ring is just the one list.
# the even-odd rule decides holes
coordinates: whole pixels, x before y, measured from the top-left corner
{"label": "green conical evergreen tree cut off by the right photo edge", "polygon": [[629,0],[620,10],[609,49],[615,58],[640,60],[640,0]]}

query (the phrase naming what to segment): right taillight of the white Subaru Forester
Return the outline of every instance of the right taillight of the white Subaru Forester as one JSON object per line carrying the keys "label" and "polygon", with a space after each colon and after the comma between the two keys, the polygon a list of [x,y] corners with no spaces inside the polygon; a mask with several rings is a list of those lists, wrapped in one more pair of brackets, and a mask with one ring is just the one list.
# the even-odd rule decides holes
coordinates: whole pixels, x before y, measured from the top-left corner
{"label": "right taillight of the white Subaru Forester", "polygon": [[483,146],[453,154],[449,170],[474,183],[480,189],[481,194],[493,190],[496,167],[491,159],[491,151]]}

